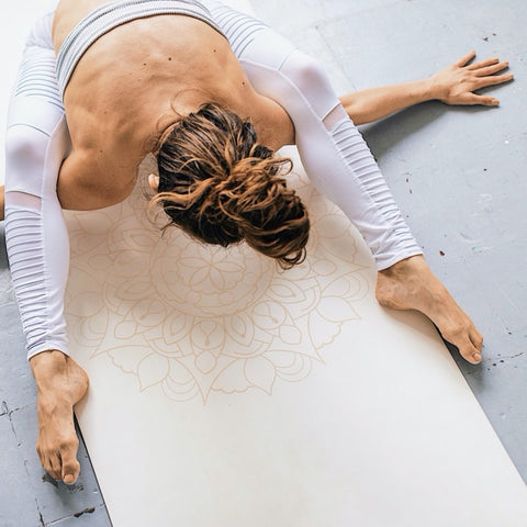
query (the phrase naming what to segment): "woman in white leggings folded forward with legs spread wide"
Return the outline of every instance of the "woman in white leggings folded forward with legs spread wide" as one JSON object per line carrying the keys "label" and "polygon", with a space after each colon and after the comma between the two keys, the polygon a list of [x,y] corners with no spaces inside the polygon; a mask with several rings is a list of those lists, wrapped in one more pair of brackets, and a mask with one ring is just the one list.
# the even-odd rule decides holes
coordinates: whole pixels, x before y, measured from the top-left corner
{"label": "woman in white leggings folded forward with legs spread wide", "polygon": [[497,104],[473,90],[509,80],[494,75],[506,64],[467,66],[472,58],[426,81],[339,101],[317,63],[217,2],[61,0],[41,19],[11,102],[5,228],[44,468],[77,479],[72,407],[88,386],[67,355],[61,208],[124,200],[148,153],[159,165],[149,177],[154,203],[171,222],[209,243],[245,239],[289,267],[304,257],[309,220],[282,177],[288,161],[272,154],[296,144],[313,183],[372,250],[379,301],[422,311],[479,362],[481,335],[429,270],[349,119],[360,124],[429,99]]}

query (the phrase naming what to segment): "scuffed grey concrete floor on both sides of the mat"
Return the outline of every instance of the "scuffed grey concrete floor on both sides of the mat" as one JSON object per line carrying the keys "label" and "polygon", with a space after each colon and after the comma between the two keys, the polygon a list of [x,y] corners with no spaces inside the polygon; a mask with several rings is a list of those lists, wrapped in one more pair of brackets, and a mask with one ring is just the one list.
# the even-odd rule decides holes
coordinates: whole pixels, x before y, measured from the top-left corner
{"label": "scuffed grey concrete floor on both sides of the mat", "polygon": [[[511,61],[515,81],[490,90],[502,101],[498,109],[425,103],[362,132],[430,266],[484,334],[483,363],[459,361],[459,367],[526,480],[527,4],[251,4],[262,19],[325,61],[339,93],[425,77],[472,48],[480,58]],[[40,467],[34,451],[35,388],[3,246],[0,227],[0,525],[111,525],[83,446],[81,478],[72,487],[55,484]]]}

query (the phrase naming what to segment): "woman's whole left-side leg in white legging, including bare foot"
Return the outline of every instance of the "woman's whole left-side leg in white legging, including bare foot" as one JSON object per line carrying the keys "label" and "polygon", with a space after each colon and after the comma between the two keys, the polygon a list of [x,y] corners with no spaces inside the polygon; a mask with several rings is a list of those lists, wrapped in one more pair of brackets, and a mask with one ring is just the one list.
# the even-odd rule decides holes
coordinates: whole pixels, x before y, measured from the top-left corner
{"label": "woman's whole left-side leg in white legging, including bare foot", "polygon": [[55,80],[52,15],[30,36],[11,100],[5,139],[5,242],[38,401],[37,451],[56,479],[79,473],[72,407],[87,389],[67,356],[64,289],[69,240],[56,195],[69,149]]}

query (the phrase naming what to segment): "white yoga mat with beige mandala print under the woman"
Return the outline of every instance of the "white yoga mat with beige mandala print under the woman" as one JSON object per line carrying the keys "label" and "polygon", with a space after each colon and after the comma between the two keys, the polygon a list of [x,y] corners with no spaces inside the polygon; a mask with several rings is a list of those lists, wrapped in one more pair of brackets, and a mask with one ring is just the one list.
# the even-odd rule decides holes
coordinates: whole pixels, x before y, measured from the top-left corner
{"label": "white yoga mat with beige mandala print under the woman", "polygon": [[525,526],[525,484],[437,333],[379,307],[368,249],[295,167],[313,231],[287,272],[160,237],[144,179],[67,214],[77,415],[113,525]]}

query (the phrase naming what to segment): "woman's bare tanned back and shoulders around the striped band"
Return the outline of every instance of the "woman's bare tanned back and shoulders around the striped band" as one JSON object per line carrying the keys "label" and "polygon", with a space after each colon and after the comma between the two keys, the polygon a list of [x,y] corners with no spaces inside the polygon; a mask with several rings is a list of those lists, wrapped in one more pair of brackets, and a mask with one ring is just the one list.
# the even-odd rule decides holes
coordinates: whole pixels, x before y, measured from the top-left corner
{"label": "woman's bare tanned back and shoulders around the striped band", "polygon": [[[61,0],[53,29],[55,49],[103,3]],[[64,96],[72,152],[59,175],[63,206],[98,209],[122,201],[176,112],[186,114],[209,101],[251,116],[260,141],[267,130],[277,130],[278,121],[292,134],[285,112],[253,90],[227,40],[205,22],[155,15],[99,37],[80,58]],[[269,135],[262,142],[280,146],[273,141]]]}

